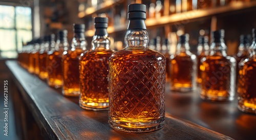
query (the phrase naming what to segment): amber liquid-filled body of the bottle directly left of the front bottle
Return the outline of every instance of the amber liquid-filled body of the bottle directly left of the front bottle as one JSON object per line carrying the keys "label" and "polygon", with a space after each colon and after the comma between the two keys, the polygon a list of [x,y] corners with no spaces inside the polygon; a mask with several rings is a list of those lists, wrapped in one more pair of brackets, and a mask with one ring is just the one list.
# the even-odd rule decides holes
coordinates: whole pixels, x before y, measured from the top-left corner
{"label": "amber liquid-filled body of the bottle directly left of the front bottle", "polygon": [[80,57],[80,106],[90,110],[109,107],[109,58],[113,51],[93,50]]}

